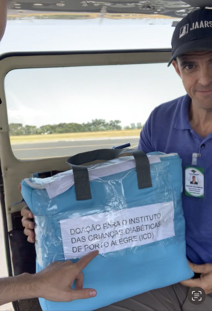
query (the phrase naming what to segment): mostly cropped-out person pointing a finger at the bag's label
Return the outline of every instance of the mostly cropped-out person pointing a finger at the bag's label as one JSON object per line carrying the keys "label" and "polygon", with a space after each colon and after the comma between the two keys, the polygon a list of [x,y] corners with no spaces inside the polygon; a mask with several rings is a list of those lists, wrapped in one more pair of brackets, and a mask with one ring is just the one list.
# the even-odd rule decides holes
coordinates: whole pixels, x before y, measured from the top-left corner
{"label": "mostly cropped-out person pointing a finger at the bag's label", "polygon": [[[6,0],[0,0],[0,41],[7,21]],[[94,289],[83,289],[82,269],[96,257],[98,251],[78,262],[53,262],[36,274],[0,278],[0,305],[19,299],[43,297],[52,301],[71,301],[96,296]],[[76,279],[76,289],[71,286]]]}

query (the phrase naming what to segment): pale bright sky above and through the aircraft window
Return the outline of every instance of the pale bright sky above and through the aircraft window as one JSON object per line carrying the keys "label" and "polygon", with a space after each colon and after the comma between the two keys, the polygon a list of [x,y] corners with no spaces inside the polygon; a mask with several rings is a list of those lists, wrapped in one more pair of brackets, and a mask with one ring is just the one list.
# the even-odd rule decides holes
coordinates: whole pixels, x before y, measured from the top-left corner
{"label": "pale bright sky above and through the aircraft window", "polygon": [[[0,53],[170,48],[172,19],[9,20]],[[167,64],[16,69],[5,77],[9,123],[145,123],[152,109],[185,94]]]}

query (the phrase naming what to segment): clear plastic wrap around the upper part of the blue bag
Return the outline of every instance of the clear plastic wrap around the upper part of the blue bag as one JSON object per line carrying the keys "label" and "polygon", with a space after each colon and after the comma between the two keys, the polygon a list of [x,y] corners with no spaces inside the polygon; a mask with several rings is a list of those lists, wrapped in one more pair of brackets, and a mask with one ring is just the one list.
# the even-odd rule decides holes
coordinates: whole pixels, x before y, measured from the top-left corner
{"label": "clear plastic wrap around the upper part of the blue bag", "polygon": [[92,199],[86,201],[76,201],[72,170],[25,179],[39,266],[95,249],[104,257],[124,256],[183,241],[181,160],[177,154],[148,158],[152,187],[146,189],[138,189],[132,156],[89,165]]}

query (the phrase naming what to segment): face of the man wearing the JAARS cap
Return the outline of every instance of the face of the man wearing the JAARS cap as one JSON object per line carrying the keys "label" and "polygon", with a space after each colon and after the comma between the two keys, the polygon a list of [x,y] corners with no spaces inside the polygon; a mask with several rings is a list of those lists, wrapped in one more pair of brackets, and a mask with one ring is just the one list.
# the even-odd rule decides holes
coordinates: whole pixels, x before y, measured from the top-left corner
{"label": "face of the man wearing the JAARS cap", "polygon": [[212,51],[194,51],[173,61],[187,94],[198,108],[212,110]]}

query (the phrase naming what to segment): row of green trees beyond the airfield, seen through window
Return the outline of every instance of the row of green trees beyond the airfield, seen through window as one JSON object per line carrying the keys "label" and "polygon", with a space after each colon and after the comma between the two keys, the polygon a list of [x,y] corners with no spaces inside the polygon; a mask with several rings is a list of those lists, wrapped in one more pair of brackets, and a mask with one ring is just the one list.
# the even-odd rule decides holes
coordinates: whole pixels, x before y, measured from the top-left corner
{"label": "row of green trees beyond the airfield, seen through window", "polygon": [[[111,120],[106,122],[104,119],[94,119],[87,123],[59,123],[47,124],[37,128],[34,125],[25,125],[22,123],[10,123],[10,135],[34,135],[34,134],[53,134],[53,133],[74,133],[74,132],[97,132],[121,130],[120,120]],[[130,129],[125,127],[124,129]]]}

